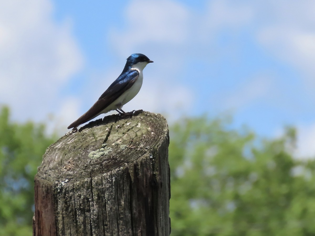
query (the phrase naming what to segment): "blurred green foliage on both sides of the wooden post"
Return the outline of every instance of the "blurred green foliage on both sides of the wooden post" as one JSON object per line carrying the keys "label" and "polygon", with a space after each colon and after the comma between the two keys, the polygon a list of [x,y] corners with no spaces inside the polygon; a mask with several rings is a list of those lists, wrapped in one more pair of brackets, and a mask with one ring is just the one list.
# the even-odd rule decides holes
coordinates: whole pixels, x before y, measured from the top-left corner
{"label": "blurred green foliage on both sides of the wooden post", "polygon": [[[56,139],[0,110],[0,235],[32,235],[33,179]],[[293,128],[258,140],[205,116],[171,125],[171,235],[315,235],[315,161],[294,148]]]}

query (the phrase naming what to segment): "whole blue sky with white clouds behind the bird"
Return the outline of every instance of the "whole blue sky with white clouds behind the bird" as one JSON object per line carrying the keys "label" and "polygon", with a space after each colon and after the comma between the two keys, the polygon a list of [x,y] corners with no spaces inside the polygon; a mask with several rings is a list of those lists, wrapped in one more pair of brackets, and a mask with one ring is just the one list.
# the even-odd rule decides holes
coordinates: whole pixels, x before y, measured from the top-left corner
{"label": "whole blue sky with white clouds behind the bird", "polygon": [[315,155],[312,0],[0,3],[0,103],[14,120],[65,133],[131,53],[154,63],[124,110],[231,114],[268,137],[294,125],[296,155]]}

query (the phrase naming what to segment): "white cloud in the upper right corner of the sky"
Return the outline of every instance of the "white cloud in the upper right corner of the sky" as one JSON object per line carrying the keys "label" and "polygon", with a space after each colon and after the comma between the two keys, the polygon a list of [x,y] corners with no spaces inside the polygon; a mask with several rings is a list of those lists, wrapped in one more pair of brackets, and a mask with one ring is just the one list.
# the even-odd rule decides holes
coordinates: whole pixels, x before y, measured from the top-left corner
{"label": "white cloud in the upper right corner of the sky", "polygon": [[[315,2],[272,1],[272,7],[256,15],[264,18],[257,28],[257,40],[272,55],[295,66],[307,84],[315,86]],[[257,16],[257,19],[259,16]]]}

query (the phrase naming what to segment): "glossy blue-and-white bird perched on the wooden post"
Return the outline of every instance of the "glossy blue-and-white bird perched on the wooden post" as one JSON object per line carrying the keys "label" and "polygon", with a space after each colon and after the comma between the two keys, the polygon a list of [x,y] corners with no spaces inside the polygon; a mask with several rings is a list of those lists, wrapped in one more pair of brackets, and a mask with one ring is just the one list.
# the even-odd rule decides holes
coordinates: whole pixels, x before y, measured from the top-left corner
{"label": "glossy blue-and-white bird perched on the wooden post", "polygon": [[95,104],[76,121],[68,126],[73,132],[77,127],[96,116],[116,110],[124,114],[123,105],[128,103],[140,91],[143,81],[142,70],[153,61],[141,53],[131,54],[118,78],[106,89]]}

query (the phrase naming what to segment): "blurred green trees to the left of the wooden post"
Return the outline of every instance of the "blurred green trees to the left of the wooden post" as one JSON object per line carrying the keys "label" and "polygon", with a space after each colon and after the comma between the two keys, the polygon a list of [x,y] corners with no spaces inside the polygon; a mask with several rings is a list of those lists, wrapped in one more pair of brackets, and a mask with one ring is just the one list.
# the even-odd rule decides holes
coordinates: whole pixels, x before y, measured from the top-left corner
{"label": "blurred green trees to the left of the wooden post", "polygon": [[32,235],[34,176],[46,148],[56,137],[45,135],[44,125],[9,120],[0,110],[0,235]]}

